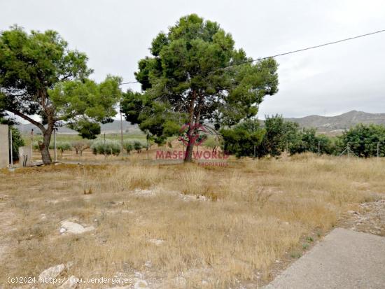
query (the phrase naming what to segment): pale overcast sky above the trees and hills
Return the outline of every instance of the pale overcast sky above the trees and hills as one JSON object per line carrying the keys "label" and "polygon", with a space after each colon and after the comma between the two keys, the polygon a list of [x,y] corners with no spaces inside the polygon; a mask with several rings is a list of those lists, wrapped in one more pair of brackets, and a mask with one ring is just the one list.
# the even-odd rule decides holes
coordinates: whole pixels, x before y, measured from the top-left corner
{"label": "pale overcast sky above the trees and hills", "polygon": [[[0,0],[0,29],[55,29],[88,55],[92,78],[132,81],[152,39],[190,13],[220,23],[253,58],[385,29],[384,0]],[[265,98],[260,118],[385,113],[385,33],[276,60],[279,92]]]}

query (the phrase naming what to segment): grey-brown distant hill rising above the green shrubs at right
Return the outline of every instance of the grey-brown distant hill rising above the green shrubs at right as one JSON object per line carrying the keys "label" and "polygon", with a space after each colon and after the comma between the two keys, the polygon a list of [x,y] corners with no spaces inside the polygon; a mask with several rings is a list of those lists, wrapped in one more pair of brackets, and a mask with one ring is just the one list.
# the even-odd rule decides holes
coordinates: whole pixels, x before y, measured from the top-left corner
{"label": "grey-brown distant hill rising above the green shrubs at right", "polygon": [[335,116],[309,115],[304,118],[285,118],[285,120],[297,122],[300,127],[315,127],[319,132],[332,132],[349,129],[358,123],[385,125],[385,113],[349,111],[349,113]]}

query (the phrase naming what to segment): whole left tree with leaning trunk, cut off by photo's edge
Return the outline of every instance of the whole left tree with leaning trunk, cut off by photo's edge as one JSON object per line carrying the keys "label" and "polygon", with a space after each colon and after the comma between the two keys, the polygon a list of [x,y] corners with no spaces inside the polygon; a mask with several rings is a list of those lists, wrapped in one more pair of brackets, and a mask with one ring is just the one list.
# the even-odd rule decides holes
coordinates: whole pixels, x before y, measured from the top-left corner
{"label": "whole left tree with leaning trunk, cut off by photo's edge", "polygon": [[116,114],[120,78],[108,76],[97,84],[87,79],[90,73],[87,56],[69,50],[56,31],[28,34],[14,26],[0,33],[0,112],[14,113],[41,129],[45,164],[51,162],[48,147],[55,125],[69,123],[92,138],[97,122]]}

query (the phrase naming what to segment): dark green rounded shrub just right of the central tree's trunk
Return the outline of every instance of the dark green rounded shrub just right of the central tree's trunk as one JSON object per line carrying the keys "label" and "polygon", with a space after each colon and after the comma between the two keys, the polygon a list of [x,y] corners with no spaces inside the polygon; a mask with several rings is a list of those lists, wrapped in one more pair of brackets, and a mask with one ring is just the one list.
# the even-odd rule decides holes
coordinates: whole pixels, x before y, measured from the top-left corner
{"label": "dark green rounded shrub just right of the central tree's trunk", "polygon": [[224,150],[237,157],[253,157],[265,135],[258,120],[245,120],[232,129],[222,129]]}

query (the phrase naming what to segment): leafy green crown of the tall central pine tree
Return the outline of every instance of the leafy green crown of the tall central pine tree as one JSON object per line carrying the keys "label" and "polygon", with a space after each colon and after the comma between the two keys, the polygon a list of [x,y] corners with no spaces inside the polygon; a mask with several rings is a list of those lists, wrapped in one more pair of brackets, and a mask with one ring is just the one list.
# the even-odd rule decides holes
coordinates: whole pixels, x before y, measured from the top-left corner
{"label": "leafy green crown of the tall central pine tree", "polygon": [[139,61],[135,76],[143,92],[123,95],[125,118],[164,143],[187,122],[211,120],[218,129],[253,117],[265,95],[278,91],[277,64],[233,65],[250,60],[234,44],[218,23],[181,17],[154,38],[151,57]]}

